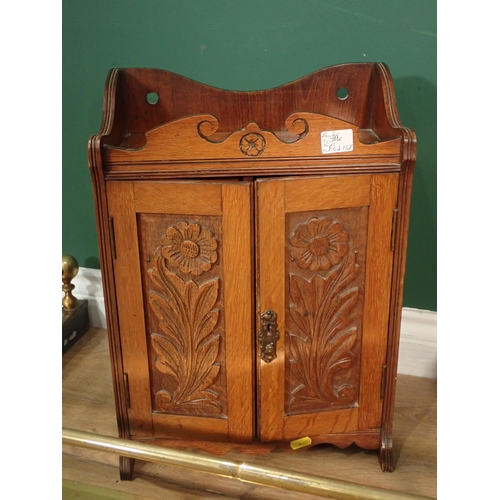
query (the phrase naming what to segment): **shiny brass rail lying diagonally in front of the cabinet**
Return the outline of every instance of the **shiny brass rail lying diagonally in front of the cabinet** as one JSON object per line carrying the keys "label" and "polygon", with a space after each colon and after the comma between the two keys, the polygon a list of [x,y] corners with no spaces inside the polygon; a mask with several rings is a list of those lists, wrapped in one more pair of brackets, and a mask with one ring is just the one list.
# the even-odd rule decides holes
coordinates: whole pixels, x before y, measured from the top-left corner
{"label": "shiny brass rail lying diagonally in front of the cabinet", "polygon": [[126,439],[67,428],[62,430],[62,442],[70,446],[114,453],[146,462],[183,467],[217,476],[234,478],[243,482],[309,493],[336,500],[422,500],[429,498],[363,486],[338,479],[301,474],[275,467],[233,462],[195,452],[173,450],[152,444],[132,442]]}

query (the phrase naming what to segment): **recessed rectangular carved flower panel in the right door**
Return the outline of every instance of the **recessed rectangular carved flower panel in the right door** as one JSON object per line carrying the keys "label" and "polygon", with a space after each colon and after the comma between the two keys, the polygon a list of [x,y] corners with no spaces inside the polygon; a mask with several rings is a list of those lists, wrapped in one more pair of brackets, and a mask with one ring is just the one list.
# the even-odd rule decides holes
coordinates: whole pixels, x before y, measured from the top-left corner
{"label": "recessed rectangular carved flower panel in the right door", "polygon": [[287,215],[288,415],[359,398],[367,210]]}

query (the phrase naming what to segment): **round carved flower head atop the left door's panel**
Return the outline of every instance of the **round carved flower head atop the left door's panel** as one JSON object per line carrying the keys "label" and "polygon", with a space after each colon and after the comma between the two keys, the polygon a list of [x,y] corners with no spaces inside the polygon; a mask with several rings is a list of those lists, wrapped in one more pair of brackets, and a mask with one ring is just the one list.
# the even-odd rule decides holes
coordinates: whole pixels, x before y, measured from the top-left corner
{"label": "round carved flower head atop the left door's panel", "polygon": [[167,229],[161,253],[172,267],[199,276],[217,260],[217,241],[210,229],[179,222]]}

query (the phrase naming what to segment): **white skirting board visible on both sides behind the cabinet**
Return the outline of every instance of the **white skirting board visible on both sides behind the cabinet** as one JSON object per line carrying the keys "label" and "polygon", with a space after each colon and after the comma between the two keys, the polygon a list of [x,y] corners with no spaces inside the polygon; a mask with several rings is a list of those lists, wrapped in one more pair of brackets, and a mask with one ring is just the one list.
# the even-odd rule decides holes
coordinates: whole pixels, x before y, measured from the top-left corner
{"label": "white skirting board visible on both sides behind the cabinet", "polygon": [[[72,283],[75,297],[89,301],[90,324],[106,328],[101,271],[81,267]],[[398,373],[437,378],[436,312],[403,308]]]}

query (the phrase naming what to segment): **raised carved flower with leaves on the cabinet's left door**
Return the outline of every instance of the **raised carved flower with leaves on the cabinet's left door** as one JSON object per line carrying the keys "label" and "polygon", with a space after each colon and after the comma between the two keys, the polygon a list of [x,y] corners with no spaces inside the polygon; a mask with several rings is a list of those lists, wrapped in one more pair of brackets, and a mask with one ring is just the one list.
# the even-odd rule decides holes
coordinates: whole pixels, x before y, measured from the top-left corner
{"label": "raised carved flower with leaves on the cabinet's left door", "polygon": [[201,275],[217,260],[217,242],[210,229],[179,222],[167,229],[161,243],[148,270],[156,285],[156,290],[149,290],[148,300],[161,330],[151,334],[154,366],[169,382],[156,391],[154,408],[218,415],[222,411],[219,394],[211,386],[220,371],[219,278],[197,284],[168,269]]}

